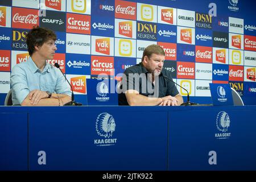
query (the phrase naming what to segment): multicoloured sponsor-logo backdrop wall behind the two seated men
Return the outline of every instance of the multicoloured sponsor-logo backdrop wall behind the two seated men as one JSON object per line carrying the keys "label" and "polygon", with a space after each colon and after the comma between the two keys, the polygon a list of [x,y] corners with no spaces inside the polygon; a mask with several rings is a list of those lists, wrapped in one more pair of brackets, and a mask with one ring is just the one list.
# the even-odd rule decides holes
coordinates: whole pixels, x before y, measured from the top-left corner
{"label": "multicoloured sponsor-logo backdrop wall behind the two seated men", "polygon": [[[11,69],[28,59],[25,37],[36,25],[56,32],[56,55],[47,62],[60,64],[82,104],[117,105],[110,85],[154,43],[193,102],[211,103],[209,83],[220,82],[255,105],[256,83],[249,79],[256,68],[255,6],[238,0],[0,0],[0,105]],[[109,80],[98,81],[100,73]]]}

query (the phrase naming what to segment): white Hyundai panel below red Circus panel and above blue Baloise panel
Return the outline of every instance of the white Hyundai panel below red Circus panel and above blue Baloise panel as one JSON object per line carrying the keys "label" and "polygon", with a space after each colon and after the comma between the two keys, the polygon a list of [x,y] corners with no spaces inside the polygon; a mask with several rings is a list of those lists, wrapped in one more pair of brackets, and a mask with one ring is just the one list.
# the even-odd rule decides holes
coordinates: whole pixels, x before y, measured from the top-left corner
{"label": "white Hyundai panel below red Circus panel and above blue Baloise panel", "polygon": [[67,53],[90,54],[90,35],[67,34]]}

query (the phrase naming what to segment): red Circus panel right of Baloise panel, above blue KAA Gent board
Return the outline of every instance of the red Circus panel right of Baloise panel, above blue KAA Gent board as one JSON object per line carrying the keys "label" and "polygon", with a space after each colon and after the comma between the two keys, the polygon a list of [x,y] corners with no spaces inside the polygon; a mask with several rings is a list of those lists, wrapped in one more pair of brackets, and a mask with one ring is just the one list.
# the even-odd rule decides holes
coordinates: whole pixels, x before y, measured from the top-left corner
{"label": "red Circus panel right of Baloise panel, above blue KAA Gent board", "polygon": [[92,56],[91,75],[114,75],[114,57]]}

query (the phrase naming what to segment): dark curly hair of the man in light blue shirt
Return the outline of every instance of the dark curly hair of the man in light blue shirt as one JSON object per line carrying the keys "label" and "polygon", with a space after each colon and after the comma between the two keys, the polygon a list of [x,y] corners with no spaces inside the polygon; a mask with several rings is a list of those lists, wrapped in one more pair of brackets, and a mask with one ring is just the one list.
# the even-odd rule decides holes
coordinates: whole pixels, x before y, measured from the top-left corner
{"label": "dark curly hair of the man in light blue shirt", "polygon": [[55,32],[44,27],[33,27],[26,36],[29,55],[35,52],[35,46],[42,46],[50,39],[54,41],[57,39]]}

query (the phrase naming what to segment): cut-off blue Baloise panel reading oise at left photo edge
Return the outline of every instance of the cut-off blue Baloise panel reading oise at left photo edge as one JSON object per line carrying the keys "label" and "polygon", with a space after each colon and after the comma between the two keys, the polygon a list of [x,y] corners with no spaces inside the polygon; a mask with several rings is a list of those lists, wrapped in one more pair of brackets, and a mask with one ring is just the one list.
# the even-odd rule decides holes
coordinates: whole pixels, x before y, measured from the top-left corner
{"label": "cut-off blue Baloise panel reading oise at left photo edge", "polygon": [[11,49],[11,28],[0,27],[0,49]]}

